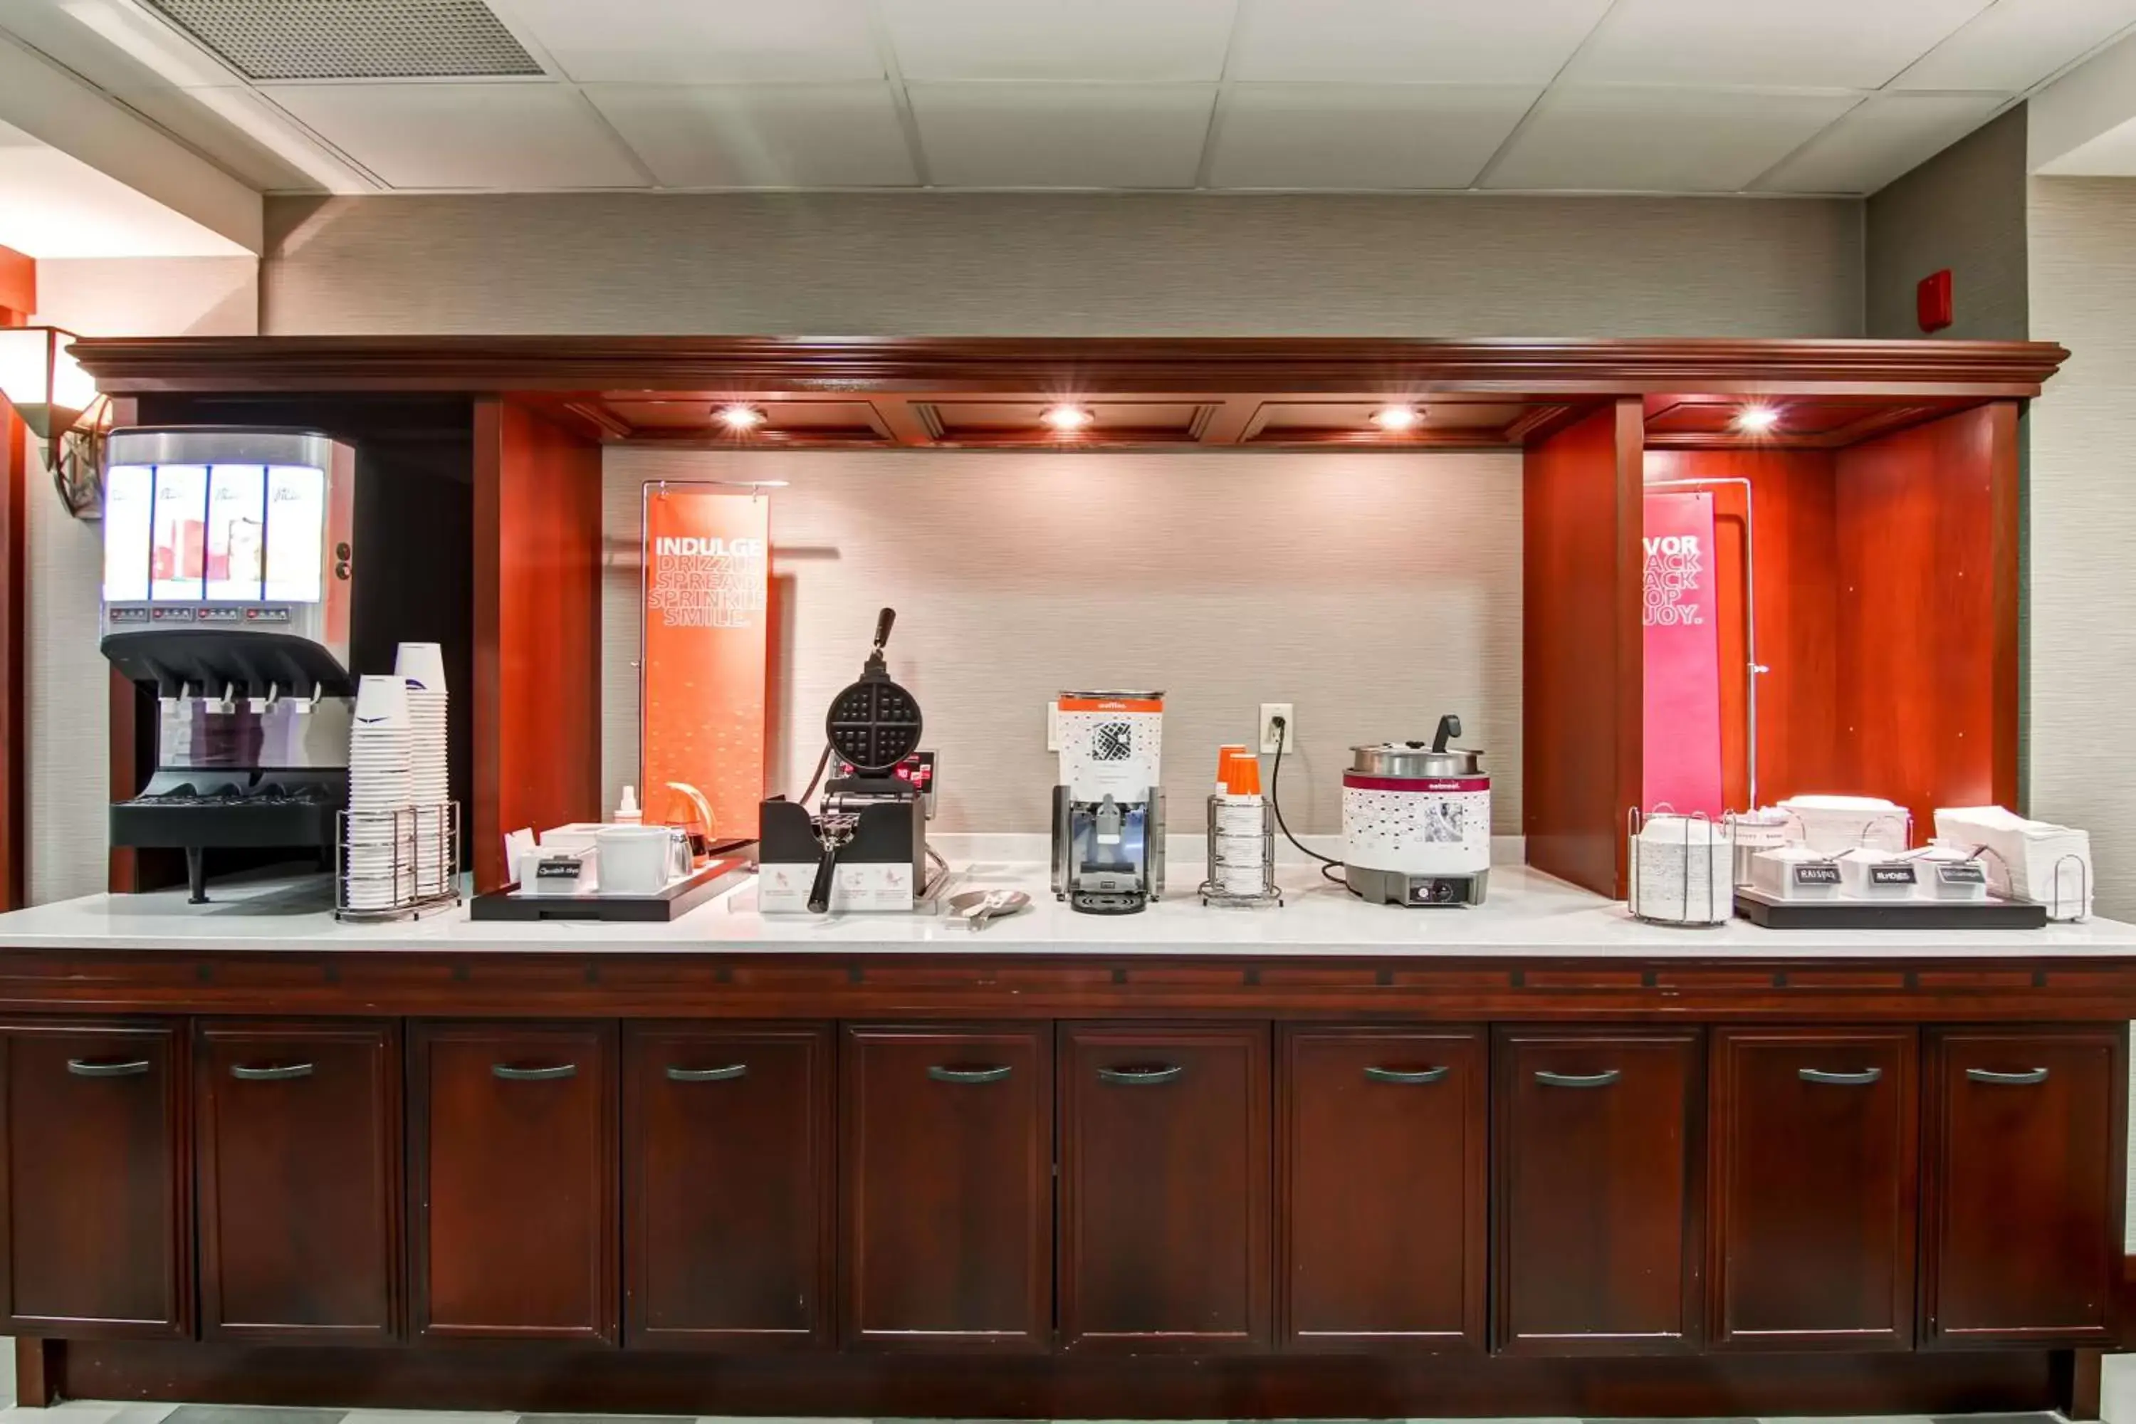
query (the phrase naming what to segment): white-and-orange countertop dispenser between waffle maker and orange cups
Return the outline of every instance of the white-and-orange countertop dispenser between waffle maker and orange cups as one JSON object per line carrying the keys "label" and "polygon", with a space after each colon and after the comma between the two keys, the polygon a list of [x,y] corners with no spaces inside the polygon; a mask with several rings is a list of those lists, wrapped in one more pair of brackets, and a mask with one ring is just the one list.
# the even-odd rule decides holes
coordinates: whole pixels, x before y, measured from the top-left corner
{"label": "white-and-orange countertop dispenser between waffle maker and orange cups", "polygon": [[1053,788],[1053,895],[1136,914],[1164,895],[1162,692],[1064,692]]}

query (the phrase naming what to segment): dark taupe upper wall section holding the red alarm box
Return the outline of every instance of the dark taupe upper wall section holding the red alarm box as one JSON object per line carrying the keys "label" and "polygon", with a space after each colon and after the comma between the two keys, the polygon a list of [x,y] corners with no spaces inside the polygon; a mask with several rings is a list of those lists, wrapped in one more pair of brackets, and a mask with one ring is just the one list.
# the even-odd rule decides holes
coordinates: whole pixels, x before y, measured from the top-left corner
{"label": "dark taupe upper wall section holding the red alarm box", "polygon": [[1869,199],[1867,335],[1929,335],[1914,286],[1944,267],[1952,322],[1937,339],[2025,339],[2023,105]]}

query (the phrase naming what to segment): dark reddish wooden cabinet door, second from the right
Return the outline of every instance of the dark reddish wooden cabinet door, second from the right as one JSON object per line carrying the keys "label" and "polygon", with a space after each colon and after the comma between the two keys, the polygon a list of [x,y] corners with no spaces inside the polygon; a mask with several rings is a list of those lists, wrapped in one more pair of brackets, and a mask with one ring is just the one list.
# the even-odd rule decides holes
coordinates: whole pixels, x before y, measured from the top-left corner
{"label": "dark reddish wooden cabinet door, second from the right", "polygon": [[1709,1341],[1914,1347],[1914,1029],[1715,1029]]}

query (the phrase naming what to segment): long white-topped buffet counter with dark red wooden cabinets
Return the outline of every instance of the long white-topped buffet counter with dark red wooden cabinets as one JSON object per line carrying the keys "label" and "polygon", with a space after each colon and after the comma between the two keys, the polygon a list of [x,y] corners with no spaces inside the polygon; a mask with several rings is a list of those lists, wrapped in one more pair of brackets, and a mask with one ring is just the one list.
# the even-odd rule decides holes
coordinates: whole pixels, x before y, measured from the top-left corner
{"label": "long white-topped buffet counter with dark red wooden cabinets", "polygon": [[2136,927],[1664,929],[1521,867],[1102,918],[959,867],[1032,907],[0,916],[26,1401],[2095,1409]]}

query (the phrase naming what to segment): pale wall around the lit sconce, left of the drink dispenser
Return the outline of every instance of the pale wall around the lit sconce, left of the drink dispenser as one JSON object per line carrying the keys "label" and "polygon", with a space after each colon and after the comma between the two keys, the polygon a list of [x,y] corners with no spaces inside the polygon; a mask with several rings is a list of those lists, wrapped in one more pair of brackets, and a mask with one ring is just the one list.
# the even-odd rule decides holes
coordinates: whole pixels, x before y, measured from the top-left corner
{"label": "pale wall around the lit sconce, left of the drink dispenser", "polygon": [[[254,258],[79,258],[36,265],[36,320],[81,335],[252,335]],[[111,664],[96,651],[100,525],[28,493],[30,901],[105,888]]]}

